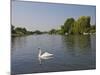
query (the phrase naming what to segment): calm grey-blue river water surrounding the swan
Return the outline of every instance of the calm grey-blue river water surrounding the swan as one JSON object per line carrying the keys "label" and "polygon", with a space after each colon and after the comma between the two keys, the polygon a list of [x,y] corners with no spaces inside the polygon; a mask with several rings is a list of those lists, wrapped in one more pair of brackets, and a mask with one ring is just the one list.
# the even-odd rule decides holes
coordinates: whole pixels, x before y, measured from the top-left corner
{"label": "calm grey-blue river water surrounding the swan", "polygon": [[[95,35],[30,35],[11,42],[12,75],[96,68]],[[53,58],[40,64],[38,48],[54,54]]]}

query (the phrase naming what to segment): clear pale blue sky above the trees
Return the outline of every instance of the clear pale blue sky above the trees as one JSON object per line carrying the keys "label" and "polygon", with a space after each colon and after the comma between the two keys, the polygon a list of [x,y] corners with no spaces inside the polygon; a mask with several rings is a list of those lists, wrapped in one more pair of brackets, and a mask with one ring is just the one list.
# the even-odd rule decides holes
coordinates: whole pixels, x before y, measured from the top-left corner
{"label": "clear pale blue sky above the trees", "polygon": [[90,16],[91,25],[96,24],[96,7],[12,1],[11,24],[15,27],[25,27],[29,31],[59,29],[67,18],[73,17],[77,20],[80,16]]}

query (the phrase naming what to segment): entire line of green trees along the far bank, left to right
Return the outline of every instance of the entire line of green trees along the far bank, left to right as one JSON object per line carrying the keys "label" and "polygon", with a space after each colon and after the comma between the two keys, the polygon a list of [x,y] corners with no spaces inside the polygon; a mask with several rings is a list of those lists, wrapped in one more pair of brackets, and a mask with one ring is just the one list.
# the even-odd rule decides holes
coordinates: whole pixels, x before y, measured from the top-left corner
{"label": "entire line of green trees along the far bank, left to right", "polygon": [[14,27],[11,25],[11,33],[12,36],[22,36],[22,35],[30,35],[30,34],[89,34],[96,32],[96,25],[90,24],[91,18],[90,16],[80,16],[77,20],[74,18],[68,18],[61,25],[60,29],[51,29],[50,31],[41,32],[39,30],[36,31],[28,31],[26,28]]}

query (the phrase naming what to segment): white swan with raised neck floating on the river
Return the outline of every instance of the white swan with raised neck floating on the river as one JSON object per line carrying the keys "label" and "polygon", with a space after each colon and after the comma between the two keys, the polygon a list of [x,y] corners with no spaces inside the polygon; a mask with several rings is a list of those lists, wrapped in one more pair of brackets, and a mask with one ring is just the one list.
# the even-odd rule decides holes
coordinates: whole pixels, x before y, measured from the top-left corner
{"label": "white swan with raised neck floating on the river", "polygon": [[53,54],[51,53],[48,53],[48,52],[44,52],[42,53],[41,49],[38,48],[39,50],[39,54],[38,54],[38,58],[39,58],[39,61],[40,61],[40,64],[41,64],[41,59],[50,59],[50,58],[53,58]]}

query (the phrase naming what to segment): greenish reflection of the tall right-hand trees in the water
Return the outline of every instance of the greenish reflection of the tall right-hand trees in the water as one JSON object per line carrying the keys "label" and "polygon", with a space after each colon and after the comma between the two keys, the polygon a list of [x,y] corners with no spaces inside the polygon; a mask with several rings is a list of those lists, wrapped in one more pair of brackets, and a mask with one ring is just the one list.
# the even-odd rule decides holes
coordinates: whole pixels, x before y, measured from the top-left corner
{"label": "greenish reflection of the tall right-hand trees in the water", "polygon": [[72,54],[84,54],[91,50],[90,35],[68,35],[62,37],[66,51]]}

